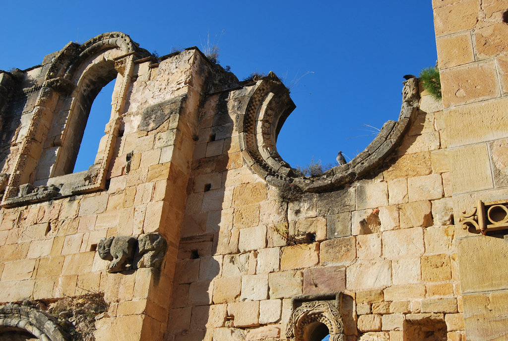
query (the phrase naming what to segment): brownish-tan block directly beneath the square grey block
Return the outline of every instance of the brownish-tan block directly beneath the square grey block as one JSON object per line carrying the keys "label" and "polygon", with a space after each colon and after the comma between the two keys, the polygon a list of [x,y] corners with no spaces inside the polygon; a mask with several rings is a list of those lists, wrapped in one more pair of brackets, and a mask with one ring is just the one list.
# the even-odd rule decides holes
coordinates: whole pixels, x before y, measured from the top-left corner
{"label": "brownish-tan block directly beneath the square grey block", "polygon": [[324,241],[321,243],[319,252],[321,265],[349,263],[356,257],[355,237],[334,238]]}

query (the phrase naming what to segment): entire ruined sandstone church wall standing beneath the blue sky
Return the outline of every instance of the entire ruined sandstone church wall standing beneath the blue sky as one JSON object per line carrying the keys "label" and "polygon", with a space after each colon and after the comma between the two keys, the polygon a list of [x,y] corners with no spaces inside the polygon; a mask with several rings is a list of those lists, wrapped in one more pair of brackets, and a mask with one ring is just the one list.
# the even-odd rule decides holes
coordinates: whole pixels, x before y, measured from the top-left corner
{"label": "entire ruined sandstone church wall standing beneath the blue sky", "polygon": [[442,103],[406,80],[398,121],[316,177],[277,153],[277,76],[239,82],[197,48],[155,59],[110,32],[0,72],[0,337],[502,339],[508,8],[433,7]]}

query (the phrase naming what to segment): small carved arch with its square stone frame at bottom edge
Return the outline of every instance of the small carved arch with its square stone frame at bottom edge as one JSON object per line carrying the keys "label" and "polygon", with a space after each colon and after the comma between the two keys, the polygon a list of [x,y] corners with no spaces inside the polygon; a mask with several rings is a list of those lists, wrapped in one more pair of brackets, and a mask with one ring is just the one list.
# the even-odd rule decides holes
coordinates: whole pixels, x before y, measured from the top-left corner
{"label": "small carved arch with its square stone frame at bottom edge", "polygon": [[294,341],[309,341],[307,329],[314,323],[322,323],[330,332],[330,341],[343,341],[344,323],[337,306],[340,297],[341,293],[293,298],[286,336]]}

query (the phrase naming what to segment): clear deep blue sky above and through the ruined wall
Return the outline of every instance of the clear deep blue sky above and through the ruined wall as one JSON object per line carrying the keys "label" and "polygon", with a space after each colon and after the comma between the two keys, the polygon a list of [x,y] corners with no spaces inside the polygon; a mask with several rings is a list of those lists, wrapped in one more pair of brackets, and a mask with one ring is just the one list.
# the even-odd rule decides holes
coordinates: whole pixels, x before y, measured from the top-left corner
{"label": "clear deep blue sky above and through the ruined wall", "polygon": [[[273,71],[291,83],[311,72],[291,88],[297,108],[277,142],[292,166],[312,157],[335,162],[339,150],[353,158],[374,138],[364,125],[397,119],[402,76],[418,75],[437,59],[431,0],[68,0],[3,2],[2,8],[2,70],[37,65],[70,41],[123,31],[160,55],[172,47],[201,48],[209,32],[220,63],[239,79]],[[93,117],[89,124],[104,126]],[[85,145],[96,153],[91,142]]]}

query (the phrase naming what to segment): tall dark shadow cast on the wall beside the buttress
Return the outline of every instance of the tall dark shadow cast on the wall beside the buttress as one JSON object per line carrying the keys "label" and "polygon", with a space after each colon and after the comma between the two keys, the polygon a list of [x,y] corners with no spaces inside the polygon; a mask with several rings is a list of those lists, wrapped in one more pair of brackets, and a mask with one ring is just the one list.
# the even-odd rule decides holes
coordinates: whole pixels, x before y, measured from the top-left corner
{"label": "tall dark shadow cast on the wall beside the buttress", "polygon": [[[215,110],[207,110],[201,122],[195,160],[187,185],[187,202],[182,223],[174,290],[170,306],[167,336],[201,340],[207,328],[233,325],[226,321],[227,304],[212,304],[213,279],[219,275],[223,256],[217,251],[221,211],[225,186],[233,120],[228,111],[229,92],[208,97],[208,104],[217,103]],[[210,123],[211,121],[211,123]],[[236,137],[233,137],[233,139]],[[203,151],[204,157],[199,156]],[[224,151],[224,153],[223,153]],[[223,252],[220,252],[223,254]],[[248,257],[248,253],[245,254]],[[225,256],[239,268],[239,255]],[[246,273],[247,271],[245,271]],[[226,285],[228,290],[229,286]],[[213,303],[224,303],[221,301]]]}

